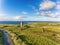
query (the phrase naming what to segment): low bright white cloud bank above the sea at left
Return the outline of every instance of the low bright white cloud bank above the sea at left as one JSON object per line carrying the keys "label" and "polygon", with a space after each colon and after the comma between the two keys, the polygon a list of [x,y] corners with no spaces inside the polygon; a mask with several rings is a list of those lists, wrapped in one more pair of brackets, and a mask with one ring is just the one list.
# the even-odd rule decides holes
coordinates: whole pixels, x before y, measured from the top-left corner
{"label": "low bright white cloud bank above the sea at left", "polygon": [[20,21],[20,20],[24,20],[24,18],[25,17],[21,15],[10,16],[8,14],[0,12],[0,21]]}

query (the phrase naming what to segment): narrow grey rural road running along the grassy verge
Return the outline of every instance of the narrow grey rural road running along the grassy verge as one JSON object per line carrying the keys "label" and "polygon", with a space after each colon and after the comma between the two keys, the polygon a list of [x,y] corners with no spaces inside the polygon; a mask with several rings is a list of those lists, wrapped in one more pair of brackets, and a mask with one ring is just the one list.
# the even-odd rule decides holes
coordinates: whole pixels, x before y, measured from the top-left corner
{"label": "narrow grey rural road running along the grassy verge", "polygon": [[2,30],[4,45],[14,45],[13,40],[11,39],[11,35],[9,35],[6,31]]}

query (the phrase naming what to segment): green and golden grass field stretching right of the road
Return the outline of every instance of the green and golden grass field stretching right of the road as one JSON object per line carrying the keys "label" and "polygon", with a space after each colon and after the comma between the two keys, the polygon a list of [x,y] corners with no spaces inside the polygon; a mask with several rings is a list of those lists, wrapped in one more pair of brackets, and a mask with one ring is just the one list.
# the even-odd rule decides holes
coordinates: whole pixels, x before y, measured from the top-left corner
{"label": "green and golden grass field stretching right of the road", "polygon": [[33,22],[24,25],[2,25],[10,35],[15,45],[60,45],[59,22]]}

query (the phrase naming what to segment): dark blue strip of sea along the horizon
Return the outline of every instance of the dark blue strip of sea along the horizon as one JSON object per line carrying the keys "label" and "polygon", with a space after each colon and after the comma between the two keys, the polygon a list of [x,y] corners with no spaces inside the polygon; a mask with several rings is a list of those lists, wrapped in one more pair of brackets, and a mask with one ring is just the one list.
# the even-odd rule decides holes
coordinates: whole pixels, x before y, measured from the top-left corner
{"label": "dark blue strip of sea along the horizon", "polygon": [[[57,21],[23,21],[24,24],[31,22],[57,22]],[[0,24],[19,24],[20,21],[0,21]]]}

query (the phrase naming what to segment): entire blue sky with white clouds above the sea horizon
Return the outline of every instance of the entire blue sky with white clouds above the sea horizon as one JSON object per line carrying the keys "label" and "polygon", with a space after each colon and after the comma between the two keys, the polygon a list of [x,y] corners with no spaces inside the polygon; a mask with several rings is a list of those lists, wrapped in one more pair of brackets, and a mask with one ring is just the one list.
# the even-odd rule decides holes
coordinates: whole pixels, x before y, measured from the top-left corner
{"label": "entire blue sky with white clouds above the sea horizon", "polygon": [[60,0],[0,0],[0,21],[60,21]]}

